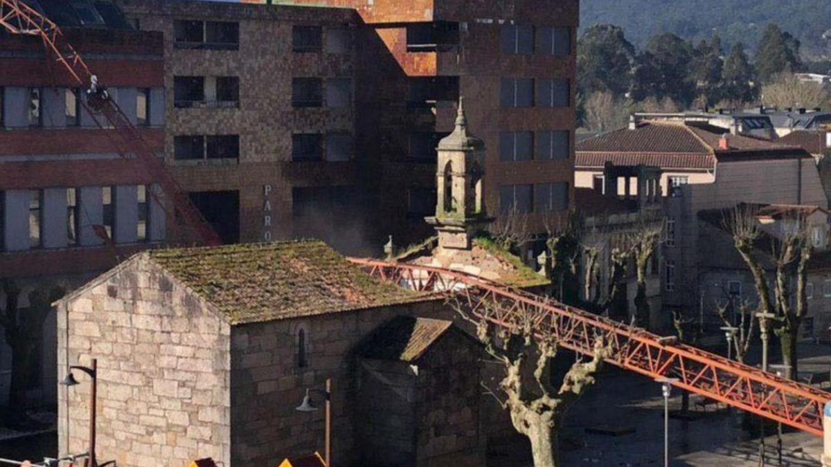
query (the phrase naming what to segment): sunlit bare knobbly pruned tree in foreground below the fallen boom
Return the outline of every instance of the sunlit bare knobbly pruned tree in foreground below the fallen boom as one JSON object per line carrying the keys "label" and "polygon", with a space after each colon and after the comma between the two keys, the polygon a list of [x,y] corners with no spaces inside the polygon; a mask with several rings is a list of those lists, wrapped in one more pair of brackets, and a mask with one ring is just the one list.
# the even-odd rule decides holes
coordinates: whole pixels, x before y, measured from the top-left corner
{"label": "sunlit bare knobbly pruned tree in foreground below the fallen boom", "polygon": [[563,415],[594,384],[594,375],[610,355],[610,347],[598,338],[591,361],[574,363],[557,386],[551,378],[557,339],[550,330],[534,328],[530,313],[520,316],[516,327],[497,327],[489,320],[492,307],[479,307],[479,314],[474,316],[460,300],[449,302],[460,317],[475,326],[484,350],[503,367],[504,377],[497,391],[483,386],[504,410],[509,410],[514,429],[530,440],[534,466],[561,465],[558,431]]}

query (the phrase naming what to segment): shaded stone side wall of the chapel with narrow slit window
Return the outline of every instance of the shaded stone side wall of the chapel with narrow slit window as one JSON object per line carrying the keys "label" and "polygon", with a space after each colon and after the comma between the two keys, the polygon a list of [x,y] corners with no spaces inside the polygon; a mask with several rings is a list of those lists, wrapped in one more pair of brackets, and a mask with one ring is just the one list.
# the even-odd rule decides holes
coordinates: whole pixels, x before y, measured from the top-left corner
{"label": "shaded stone side wall of the chapel with narrow slit window", "polygon": [[[324,413],[294,410],[307,388],[332,378],[332,463],[356,459],[356,357],[362,338],[399,315],[452,318],[440,302],[254,323],[232,329],[231,443],[234,465],[274,465],[288,455],[323,450]],[[306,336],[307,366],[297,366],[297,335]],[[245,460],[244,464],[242,463]]]}

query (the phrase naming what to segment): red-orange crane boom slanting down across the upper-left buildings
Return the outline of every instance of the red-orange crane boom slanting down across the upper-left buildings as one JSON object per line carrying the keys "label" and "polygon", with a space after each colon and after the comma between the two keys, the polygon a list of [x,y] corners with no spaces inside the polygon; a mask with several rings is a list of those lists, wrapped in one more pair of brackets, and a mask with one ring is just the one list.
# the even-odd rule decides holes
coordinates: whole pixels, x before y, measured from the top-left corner
{"label": "red-orange crane boom slanting down across the upper-left buildings", "polygon": [[[69,72],[77,86],[91,89],[94,73],[86,66],[75,48],[66,41],[61,28],[43,16],[41,12],[22,0],[0,0],[0,27],[12,34],[40,37],[47,49],[47,60],[54,58]],[[189,229],[187,238],[193,238],[194,243],[206,246],[222,243],[219,235],[204,220],[199,209],[167,170],[165,160],[155,154],[153,148],[115,101],[106,97],[91,96],[89,100],[81,99],[81,105],[101,129],[106,130],[112,127],[112,130],[106,131],[106,135],[118,154],[125,159],[135,157],[145,168],[150,179],[160,185],[164,196],[174,207],[175,213],[179,214],[184,225]],[[103,116],[106,123],[96,116]],[[148,190],[148,193],[161,206],[165,206],[165,199],[156,194],[155,190]],[[176,220],[175,215],[169,218],[174,222]]]}

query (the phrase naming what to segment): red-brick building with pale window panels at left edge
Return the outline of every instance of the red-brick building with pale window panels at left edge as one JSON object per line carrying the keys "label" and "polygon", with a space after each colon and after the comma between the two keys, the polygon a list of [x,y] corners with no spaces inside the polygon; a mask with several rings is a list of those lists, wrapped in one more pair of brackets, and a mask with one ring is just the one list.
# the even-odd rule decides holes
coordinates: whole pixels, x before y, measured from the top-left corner
{"label": "red-brick building with pale window panels at left edge", "polygon": [[[162,36],[130,30],[110,2],[29,3],[65,28],[66,40],[161,152]],[[39,283],[77,287],[116,258],[164,240],[165,213],[148,196],[152,180],[135,160],[116,154],[111,130],[99,128],[81,107],[86,90],[45,60],[41,39],[0,30],[0,278],[14,278],[22,288],[19,307],[25,312],[28,292]],[[112,243],[95,226],[104,226]],[[2,291],[0,303],[5,307]],[[47,320],[46,342],[54,341],[54,329],[54,318]],[[54,351],[54,344],[43,347],[33,396],[42,391],[47,400],[55,397]],[[10,366],[3,343],[0,404]]]}

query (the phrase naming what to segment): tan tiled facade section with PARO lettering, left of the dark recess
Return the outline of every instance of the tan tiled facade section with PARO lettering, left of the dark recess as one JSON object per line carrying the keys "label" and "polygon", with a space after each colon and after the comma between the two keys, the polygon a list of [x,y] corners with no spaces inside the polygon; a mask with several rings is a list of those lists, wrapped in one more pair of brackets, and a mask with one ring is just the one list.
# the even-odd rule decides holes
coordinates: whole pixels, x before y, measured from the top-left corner
{"label": "tan tiled facade section with PARO lettering, left of the dark recess", "polygon": [[355,12],[121,6],[135,27],[165,37],[165,160],[224,242],[315,237],[356,251],[366,203],[354,150]]}

